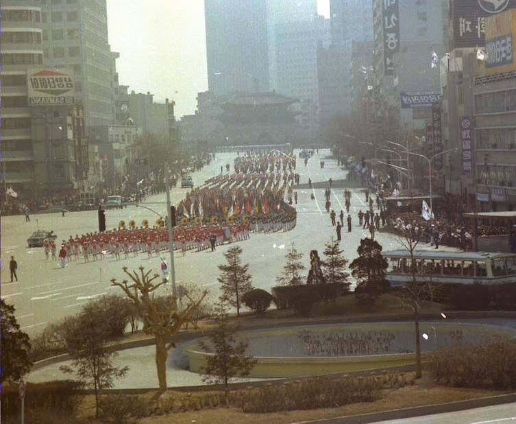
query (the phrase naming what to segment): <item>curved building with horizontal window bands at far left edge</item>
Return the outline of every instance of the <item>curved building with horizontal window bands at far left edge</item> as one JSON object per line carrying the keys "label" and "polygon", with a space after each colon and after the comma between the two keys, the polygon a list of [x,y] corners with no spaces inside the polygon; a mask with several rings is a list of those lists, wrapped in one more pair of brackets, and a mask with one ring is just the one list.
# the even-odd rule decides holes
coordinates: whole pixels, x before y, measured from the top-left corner
{"label": "curved building with horizontal window bands at far left edge", "polygon": [[[27,67],[43,63],[41,8],[36,1],[1,3],[1,165],[2,191],[34,185]],[[26,192],[25,192],[26,193]]]}

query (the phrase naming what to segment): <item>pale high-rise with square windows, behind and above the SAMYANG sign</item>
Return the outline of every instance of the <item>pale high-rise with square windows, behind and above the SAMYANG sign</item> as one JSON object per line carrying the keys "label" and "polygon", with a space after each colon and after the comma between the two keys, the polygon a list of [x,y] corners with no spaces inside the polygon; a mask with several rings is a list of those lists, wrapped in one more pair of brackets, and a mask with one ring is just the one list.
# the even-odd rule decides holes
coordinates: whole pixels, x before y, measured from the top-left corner
{"label": "pale high-rise with square windows, behind and above the SAMYANG sign", "polygon": [[89,126],[112,122],[106,0],[42,0],[43,62],[73,69],[77,102]]}

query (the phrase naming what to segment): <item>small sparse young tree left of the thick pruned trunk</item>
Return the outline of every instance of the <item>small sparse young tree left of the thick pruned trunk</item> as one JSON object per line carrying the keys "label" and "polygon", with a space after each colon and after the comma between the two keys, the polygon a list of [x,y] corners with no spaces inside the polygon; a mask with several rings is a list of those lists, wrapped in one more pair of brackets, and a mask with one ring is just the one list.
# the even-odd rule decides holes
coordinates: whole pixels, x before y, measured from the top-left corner
{"label": "small sparse young tree left of the thick pruned trunk", "polygon": [[99,417],[99,394],[112,388],[114,380],[123,377],[128,366],[113,365],[116,352],[107,346],[110,327],[106,320],[95,314],[95,308],[83,308],[75,319],[73,329],[66,334],[66,351],[73,366],[60,366],[64,373],[74,373],[95,392],[95,417]]}

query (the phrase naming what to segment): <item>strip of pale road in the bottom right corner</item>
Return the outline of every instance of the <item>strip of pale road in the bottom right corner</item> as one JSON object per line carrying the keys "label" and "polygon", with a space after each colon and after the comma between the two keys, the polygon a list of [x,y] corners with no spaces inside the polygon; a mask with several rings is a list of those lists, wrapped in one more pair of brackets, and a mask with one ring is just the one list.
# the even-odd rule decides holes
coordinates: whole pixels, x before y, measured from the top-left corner
{"label": "strip of pale road in the bottom right corner", "polygon": [[516,423],[516,403],[380,422],[382,424],[509,424]]}

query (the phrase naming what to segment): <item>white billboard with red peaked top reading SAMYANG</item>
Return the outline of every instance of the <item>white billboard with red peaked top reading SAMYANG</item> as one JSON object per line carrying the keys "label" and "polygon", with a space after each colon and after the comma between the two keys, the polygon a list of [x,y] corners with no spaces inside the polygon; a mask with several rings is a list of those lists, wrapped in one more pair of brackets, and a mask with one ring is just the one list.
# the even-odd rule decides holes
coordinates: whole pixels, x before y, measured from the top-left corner
{"label": "white billboard with red peaked top reading SAMYANG", "polygon": [[53,106],[74,103],[73,78],[64,72],[38,69],[27,72],[29,106]]}

